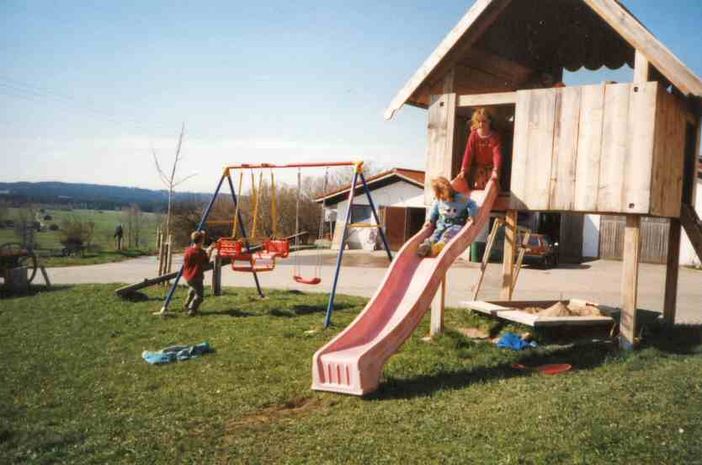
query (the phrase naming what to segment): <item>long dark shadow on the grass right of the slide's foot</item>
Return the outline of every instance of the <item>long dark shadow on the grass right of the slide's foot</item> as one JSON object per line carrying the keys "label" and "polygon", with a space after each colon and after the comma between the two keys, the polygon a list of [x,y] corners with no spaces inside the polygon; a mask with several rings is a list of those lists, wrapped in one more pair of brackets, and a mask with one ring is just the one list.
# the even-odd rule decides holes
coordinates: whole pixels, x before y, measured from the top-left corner
{"label": "long dark shadow on the grass right of the slide's foot", "polygon": [[426,397],[441,390],[462,389],[475,383],[484,383],[518,376],[530,376],[532,371],[517,369],[512,365],[520,363],[526,367],[536,367],[551,363],[569,363],[576,370],[587,370],[601,365],[616,351],[613,344],[582,344],[549,350],[547,352],[527,351],[515,362],[492,367],[474,367],[457,371],[445,371],[411,379],[388,379],[367,399],[412,399]]}

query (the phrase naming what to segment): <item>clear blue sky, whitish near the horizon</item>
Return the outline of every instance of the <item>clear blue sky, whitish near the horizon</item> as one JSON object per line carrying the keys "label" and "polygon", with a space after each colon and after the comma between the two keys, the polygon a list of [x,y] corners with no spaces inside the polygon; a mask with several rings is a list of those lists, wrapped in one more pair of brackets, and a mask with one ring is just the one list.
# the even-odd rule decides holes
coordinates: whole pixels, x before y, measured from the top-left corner
{"label": "clear blue sky, whitish near the horizon", "polygon": [[[624,3],[702,75],[702,3]],[[3,0],[0,181],[159,188],[183,121],[182,190],[237,162],[422,169],[425,112],[382,112],[471,4]]]}

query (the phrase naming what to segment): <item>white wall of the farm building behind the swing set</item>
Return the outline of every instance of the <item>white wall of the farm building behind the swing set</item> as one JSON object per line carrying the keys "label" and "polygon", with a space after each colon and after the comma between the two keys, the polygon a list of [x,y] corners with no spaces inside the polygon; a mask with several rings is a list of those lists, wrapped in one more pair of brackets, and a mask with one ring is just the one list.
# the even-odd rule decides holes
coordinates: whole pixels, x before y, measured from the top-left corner
{"label": "white wall of the farm building behind the swing set", "polygon": [[[420,207],[424,208],[424,189],[406,181],[381,187],[371,191],[373,205],[375,205],[378,215],[381,207]],[[370,205],[368,196],[364,193],[358,195],[353,200],[354,205]],[[341,242],[341,231],[348,200],[343,200],[336,205],[329,205],[327,208],[336,210],[336,230],[334,231],[334,241],[332,248],[338,248]],[[368,218],[369,223],[375,224],[375,219]],[[378,241],[378,230],[375,228],[350,229],[346,239],[350,249],[374,250]]]}

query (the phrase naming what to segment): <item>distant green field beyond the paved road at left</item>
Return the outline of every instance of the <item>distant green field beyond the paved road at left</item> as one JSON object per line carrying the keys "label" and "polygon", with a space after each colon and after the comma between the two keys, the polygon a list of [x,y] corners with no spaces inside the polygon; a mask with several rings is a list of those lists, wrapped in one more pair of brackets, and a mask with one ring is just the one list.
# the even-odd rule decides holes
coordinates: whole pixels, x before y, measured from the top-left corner
{"label": "distant green field beyond the paved road at left", "polygon": [[[8,209],[8,219],[15,219],[19,215],[18,208]],[[124,260],[144,253],[155,251],[156,249],[156,227],[160,221],[160,215],[155,213],[142,212],[141,228],[139,235],[139,246],[133,246],[130,250],[123,252],[115,251],[114,231],[115,227],[122,223],[126,228],[125,214],[113,210],[62,210],[58,208],[45,207],[43,213],[37,216],[43,218],[50,215],[51,220],[43,220],[45,230],[35,234],[38,253],[44,257],[46,266],[72,266],[72,265],[93,265],[96,263],[107,263]],[[83,256],[58,257],[55,256],[63,249],[60,242],[60,231],[49,231],[48,227],[56,224],[62,226],[62,221],[68,218],[78,218],[82,221],[92,221],[95,223],[95,232],[91,241],[92,248],[85,252]],[[20,239],[14,228],[0,229],[0,244],[6,242],[18,242]],[[125,248],[126,242],[125,229]]]}

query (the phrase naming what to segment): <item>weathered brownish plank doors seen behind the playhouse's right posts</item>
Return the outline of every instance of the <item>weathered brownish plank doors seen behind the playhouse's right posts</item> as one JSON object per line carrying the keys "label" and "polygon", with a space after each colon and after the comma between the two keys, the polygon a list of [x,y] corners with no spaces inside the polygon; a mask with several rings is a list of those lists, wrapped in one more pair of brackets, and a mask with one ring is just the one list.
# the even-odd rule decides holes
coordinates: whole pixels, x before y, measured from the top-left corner
{"label": "weathered brownish plank doors seen behind the playhouse's right posts", "polygon": [[[641,261],[666,263],[670,221],[667,218],[641,219]],[[600,258],[621,260],[624,250],[624,217],[603,215],[600,219]]]}

